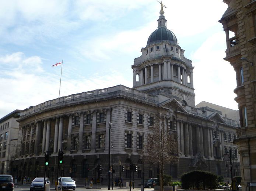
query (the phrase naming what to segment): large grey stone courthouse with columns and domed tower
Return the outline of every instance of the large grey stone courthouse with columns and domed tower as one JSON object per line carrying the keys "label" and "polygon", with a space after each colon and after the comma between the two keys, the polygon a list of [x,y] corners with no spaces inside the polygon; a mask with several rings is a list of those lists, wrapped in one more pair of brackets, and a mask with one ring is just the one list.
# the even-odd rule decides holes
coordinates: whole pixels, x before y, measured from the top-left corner
{"label": "large grey stone courthouse with columns and domed tower", "polygon": [[[184,172],[206,170],[230,180],[223,154],[234,153],[234,175],[240,175],[236,139],[238,111],[201,102],[195,106],[192,61],[169,29],[161,8],[157,29],[134,59],[133,88],[117,85],[76,93],[25,109],[18,122],[17,153],[10,163],[14,176],[43,176],[45,151],[50,151],[46,175],[56,177],[58,151],[64,152],[60,176],[78,183],[108,177],[111,128],[111,165],[114,179],[130,176],[130,163],[138,165],[135,186],[156,177],[158,165],[147,161],[145,146],[159,110],[168,119],[170,133],[178,137],[179,159],[165,164],[165,174],[178,180]],[[132,72],[131,71],[131,72]],[[214,107],[212,107],[214,106]],[[111,122],[111,124],[109,123]],[[100,172],[97,164],[102,166]],[[88,183],[88,182],[87,182]]]}

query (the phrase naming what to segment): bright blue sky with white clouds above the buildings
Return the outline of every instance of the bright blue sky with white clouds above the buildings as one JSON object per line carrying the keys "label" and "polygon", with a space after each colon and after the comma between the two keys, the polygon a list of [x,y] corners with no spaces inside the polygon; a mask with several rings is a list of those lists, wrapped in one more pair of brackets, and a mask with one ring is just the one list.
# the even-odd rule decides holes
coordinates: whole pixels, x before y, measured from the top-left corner
{"label": "bright blue sky with white clouds above the buildings", "polygon": [[[223,60],[222,0],[165,0],[167,28],[192,60],[196,104],[238,110]],[[0,0],[0,118],[59,97],[133,86],[134,58],[157,29],[157,0]],[[63,65],[52,67],[62,62]]]}

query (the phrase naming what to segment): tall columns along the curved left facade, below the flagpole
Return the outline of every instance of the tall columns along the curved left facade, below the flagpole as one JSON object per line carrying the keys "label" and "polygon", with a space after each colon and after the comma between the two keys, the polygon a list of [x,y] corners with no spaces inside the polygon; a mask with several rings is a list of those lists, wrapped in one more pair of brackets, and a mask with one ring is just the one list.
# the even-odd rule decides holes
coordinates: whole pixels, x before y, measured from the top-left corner
{"label": "tall columns along the curved left facade, below the flagpole", "polygon": [[[28,126],[25,126],[23,131],[22,131],[22,144],[24,145],[21,150],[26,150],[27,148],[27,143],[29,142],[29,154],[40,154],[39,153],[39,144],[42,144],[42,154],[44,154],[45,151],[49,150],[50,148],[50,139],[51,137],[54,137],[54,143],[53,143],[53,153],[57,153],[59,150],[62,150],[63,146],[63,131],[64,131],[64,126],[63,126],[63,120],[64,117],[66,116],[60,116],[60,117],[55,117],[55,118],[49,118],[45,119],[43,121],[38,121],[36,124],[32,123]],[[71,135],[72,135],[72,115],[67,115],[69,118],[69,123],[68,123],[68,129],[67,129],[67,151],[71,150]],[[111,110],[107,110],[106,112],[106,133],[105,133],[105,145],[108,145],[108,129],[109,125],[108,123],[110,122],[111,119]],[[51,136],[51,122],[55,121],[55,126],[54,126],[54,135]],[[96,127],[97,127],[97,112],[94,111],[92,115],[92,131],[91,131],[91,151],[95,150],[95,144],[96,144]],[[32,126],[36,125],[36,132],[35,132],[35,138],[32,138]],[[27,128],[31,128],[31,133],[30,137],[28,139],[27,133]],[[80,124],[79,124],[79,142],[78,142],[78,152],[83,151],[83,133],[84,133],[84,113],[80,113]],[[32,141],[35,142],[35,147],[34,151],[31,151],[31,143]],[[32,153],[31,153],[32,152]]]}

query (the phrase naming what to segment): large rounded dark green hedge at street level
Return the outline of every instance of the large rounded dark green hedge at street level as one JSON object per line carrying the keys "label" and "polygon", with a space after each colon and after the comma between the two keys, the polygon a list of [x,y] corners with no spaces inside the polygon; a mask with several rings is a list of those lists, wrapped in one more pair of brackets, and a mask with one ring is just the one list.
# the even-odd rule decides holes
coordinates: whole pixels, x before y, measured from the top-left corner
{"label": "large rounded dark green hedge at street level", "polygon": [[181,177],[183,189],[215,189],[218,187],[218,177],[204,171],[191,171]]}

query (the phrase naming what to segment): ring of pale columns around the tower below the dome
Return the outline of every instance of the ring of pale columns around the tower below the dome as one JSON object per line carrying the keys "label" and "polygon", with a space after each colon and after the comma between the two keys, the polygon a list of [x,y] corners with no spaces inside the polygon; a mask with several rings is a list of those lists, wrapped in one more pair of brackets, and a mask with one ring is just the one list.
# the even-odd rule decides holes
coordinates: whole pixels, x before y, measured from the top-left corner
{"label": "ring of pale columns around the tower below the dome", "polygon": [[[155,65],[158,65],[158,81],[175,80],[175,77],[173,74],[173,66],[176,64],[173,64],[170,60],[164,60],[164,63],[155,64]],[[154,82],[154,66],[155,65],[151,64],[151,65],[145,66],[140,70],[134,69],[133,70],[133,87],[136,87],[137,74],[139,75],[140,85]],[[175,69],[177,70],[178,83],[188,85],[187,76],[189,76],[190,84],[191,84],[191,87],[193,88],[193,71],[187,72],[186,69],[180,65],[177,65]],[[182,69],[182,73],[180,73],[180,69]],[[151,77],[149,82],[148,82],[148,70],[151,71]]]}

